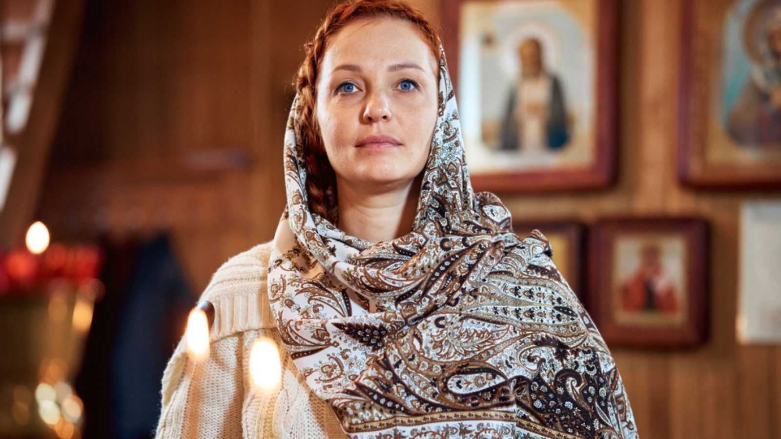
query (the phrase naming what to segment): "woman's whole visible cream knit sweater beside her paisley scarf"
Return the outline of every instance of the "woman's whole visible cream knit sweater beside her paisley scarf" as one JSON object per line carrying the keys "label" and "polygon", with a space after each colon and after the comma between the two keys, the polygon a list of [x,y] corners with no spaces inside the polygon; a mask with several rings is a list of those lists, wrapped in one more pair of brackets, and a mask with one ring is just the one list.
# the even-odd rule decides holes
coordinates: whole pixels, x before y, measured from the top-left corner
{"label": "woman's whole visible cream knit sweater beside her paisley scarf", "polygon": [[[184,338],[173,352],[162,377],[159,439],[346,437],[280,340],[266,295],[270,251],[270,242],[255,245],[212,276],[201,295],[215,309],[209,358],[188,359]],[[282,379],[275,391],[251,385],[249,350],[258,337],[270,337],[280,348]]]}

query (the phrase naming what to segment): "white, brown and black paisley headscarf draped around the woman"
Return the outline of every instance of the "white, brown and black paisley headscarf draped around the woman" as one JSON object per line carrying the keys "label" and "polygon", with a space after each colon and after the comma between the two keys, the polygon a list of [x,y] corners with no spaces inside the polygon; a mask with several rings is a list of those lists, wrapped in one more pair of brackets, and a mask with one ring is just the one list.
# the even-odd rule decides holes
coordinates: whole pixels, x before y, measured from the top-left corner
{"label": "white, brown and black paisley headscarf draped around the woman", "polygon": [[377,243],[308,208],[298,96],[268,294],[284,347],[351,437],[637,437],[608,347],[538,230],[469,182],[440,45],[412,230]]}

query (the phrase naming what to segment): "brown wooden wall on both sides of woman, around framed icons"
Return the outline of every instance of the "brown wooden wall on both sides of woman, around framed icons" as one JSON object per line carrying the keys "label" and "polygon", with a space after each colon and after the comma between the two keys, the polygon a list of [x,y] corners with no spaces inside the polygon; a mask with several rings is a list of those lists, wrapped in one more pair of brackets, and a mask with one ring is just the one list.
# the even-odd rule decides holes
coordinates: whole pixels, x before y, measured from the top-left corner
{"label": "brown wooden wall on both sides of woman, around framed icons", "polygon": [[[415,3],[439,22],[437,0]],[[284,205],[281,139],[298,48],[328,5],[88,2],[40,208],[55,237],[169,223],[198,289],[230,255],[269,240]],[[678,184],[679,20],[675,0],[622,4],[618,184],[502,199],[519,219],[707,218],[708,344],[614,350],[641,437],[781,437],[781,348],[740,346],[734,335],[740,202],[781,192]],[[240,159],[202,169],[193,152]]]}

